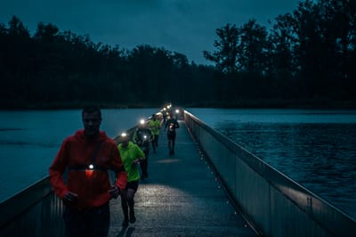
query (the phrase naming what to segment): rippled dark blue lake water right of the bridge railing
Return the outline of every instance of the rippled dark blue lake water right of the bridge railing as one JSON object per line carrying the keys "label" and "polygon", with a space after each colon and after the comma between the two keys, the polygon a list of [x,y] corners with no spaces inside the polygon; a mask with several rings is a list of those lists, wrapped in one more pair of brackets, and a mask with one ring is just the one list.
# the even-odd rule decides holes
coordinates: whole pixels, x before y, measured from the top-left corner
{"label": "rippled dark blue lake water right of the bridge railing", "polygon": [[356,110],[188,110],[356,217]]}

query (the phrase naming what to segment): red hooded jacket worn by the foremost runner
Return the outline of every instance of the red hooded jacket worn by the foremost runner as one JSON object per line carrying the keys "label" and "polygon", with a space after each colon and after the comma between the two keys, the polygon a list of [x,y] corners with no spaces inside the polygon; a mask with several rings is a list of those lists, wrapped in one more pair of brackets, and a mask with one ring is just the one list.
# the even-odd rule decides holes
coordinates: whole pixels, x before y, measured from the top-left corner
{"label": "red hooded jacket worn by the foremost runner", "polygon": [[[100,141],[101,148],[92,162],[93,153]],[[93,164],[93,171],[89,165]],[[68,182],[62,175],[68,168]],[[63,198],[67,192],[74,192],[78,200],[73,208],[85,209],[99,207],[111,199],[109,189],[108,171],[116,174],[116,185],[120,190],[125,189],[127,175],[117,150],[117,144],[104,132],[94,141],[88,141],[84,135],[84,129],[78,130],[61,144],[61,149],[49,168],[50,182],[54,192]]]}

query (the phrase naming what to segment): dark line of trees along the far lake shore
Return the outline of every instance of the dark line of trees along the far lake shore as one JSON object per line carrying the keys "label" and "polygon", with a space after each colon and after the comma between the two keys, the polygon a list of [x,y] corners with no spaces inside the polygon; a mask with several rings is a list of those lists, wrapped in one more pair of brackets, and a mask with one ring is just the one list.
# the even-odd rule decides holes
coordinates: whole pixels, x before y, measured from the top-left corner
{"label": "dark line of trees along the far lake shore", "polygon": [[356,6],[306,0],[271,29],[216,29],[213,65],[150,45],[132,50],[19,18],[0,24],[0,107],[328,106],[356,101]]}

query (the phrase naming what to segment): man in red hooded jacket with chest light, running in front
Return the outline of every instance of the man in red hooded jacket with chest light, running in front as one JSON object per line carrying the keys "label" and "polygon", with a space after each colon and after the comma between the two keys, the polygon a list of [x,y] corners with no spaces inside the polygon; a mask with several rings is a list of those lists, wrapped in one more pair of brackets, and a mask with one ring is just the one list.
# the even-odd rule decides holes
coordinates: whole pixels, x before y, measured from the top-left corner
{"label": "man in red hooded jacket with chest light, running in front", "polygon": [[[61,144],[49,169],[54,192],[66,206],[64,222],[68,236],[107,236],[109,200],[125,192],[127,175],[117,144],[100,131],[101,111],[83,110],[84,130]],[[68,169],[68,181],[63,174]],[[110,184],[108,171],[116,173]]]}

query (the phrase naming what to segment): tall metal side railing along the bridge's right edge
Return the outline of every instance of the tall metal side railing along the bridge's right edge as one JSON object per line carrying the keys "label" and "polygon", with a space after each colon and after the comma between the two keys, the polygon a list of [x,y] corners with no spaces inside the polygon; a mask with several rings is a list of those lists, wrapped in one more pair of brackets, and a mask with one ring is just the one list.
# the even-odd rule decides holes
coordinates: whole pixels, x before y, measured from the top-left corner
{"label": "tall metal side railing along the bridge's right edge", "polygon": [[356,221],[188,111],[186,126],[242,214],[265,236],[355,236]]}

